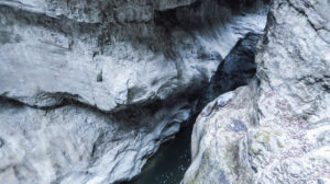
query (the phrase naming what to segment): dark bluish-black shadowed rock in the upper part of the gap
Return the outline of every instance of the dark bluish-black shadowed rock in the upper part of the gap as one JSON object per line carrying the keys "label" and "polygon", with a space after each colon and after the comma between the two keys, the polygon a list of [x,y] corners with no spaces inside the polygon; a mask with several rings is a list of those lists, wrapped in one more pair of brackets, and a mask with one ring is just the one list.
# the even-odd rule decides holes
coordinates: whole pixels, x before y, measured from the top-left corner
{"label": "dark bluish-black shadowed rock in the upper part of the gap", "polygon": [[209,84],[204,89],[194,114],[198,114],[209,102],[228,91],[248,84],[255,74],[255,50],[260,34],[249,33],[221,61]]}

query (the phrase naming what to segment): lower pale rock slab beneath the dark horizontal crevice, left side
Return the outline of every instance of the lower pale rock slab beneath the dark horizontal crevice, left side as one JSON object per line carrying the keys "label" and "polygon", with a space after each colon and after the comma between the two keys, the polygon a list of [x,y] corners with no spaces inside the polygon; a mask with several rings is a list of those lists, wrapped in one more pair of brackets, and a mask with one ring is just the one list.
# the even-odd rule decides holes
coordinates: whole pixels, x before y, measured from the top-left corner
{"label": "lower pale rock slab beneath the dark horizontal crevice, left side", "polygon": [[185,101],[164,104],[154,114],[140,110],[143,118],[133,122],[77,105],[43,111],[2,102],[0,183],[131,180],[158,146],[179,130],[188,118],[188,105]]}

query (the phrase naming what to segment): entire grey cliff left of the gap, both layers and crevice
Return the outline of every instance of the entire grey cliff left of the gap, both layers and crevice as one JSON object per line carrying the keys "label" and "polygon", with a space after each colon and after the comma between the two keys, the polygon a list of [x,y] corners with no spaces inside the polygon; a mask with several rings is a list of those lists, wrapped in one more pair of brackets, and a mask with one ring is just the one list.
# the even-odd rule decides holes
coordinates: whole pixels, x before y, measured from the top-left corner
{"label": "entire grey cliff left of the gap, both layers and crevice", "polygon": [[0,0],[0,183],[131,180],[267,3]]}

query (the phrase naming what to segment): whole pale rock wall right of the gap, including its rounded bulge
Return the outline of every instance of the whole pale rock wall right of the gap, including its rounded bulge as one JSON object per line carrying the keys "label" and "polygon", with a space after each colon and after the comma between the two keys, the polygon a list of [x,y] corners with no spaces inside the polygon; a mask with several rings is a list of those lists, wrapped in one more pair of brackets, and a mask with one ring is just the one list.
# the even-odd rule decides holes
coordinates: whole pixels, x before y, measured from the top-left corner
{"label": "whole pale rock wall right of the gap, including its rounded bulge", "polygon": [[274,1],[256,56],[258,84],[199,115],[184,183],[330,183],[329,8]]}

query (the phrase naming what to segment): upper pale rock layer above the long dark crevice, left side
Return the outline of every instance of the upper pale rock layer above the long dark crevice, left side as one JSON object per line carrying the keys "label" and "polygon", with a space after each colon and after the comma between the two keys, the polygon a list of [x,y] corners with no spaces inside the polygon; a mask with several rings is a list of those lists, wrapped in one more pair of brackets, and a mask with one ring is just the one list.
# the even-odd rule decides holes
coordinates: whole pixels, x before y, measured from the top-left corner
{"label": "upper pale rock layer above the long dark crevice, left side", "polygon": [[198,87],[266,16],[262,3],[239,12],[190,3],[0,0],[0,95],[110,112]]}

